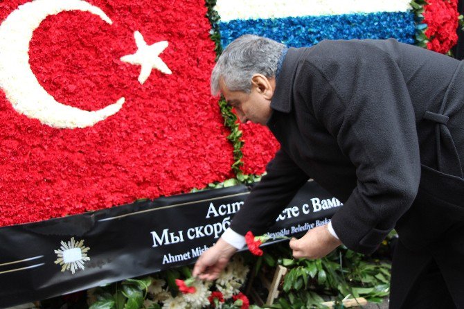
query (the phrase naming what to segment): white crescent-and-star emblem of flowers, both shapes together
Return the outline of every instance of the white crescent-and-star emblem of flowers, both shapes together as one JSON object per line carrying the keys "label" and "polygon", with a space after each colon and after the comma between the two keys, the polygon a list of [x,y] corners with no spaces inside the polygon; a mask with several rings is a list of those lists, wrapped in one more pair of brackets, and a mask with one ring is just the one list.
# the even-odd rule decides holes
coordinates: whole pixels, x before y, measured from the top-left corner
{"label": "white crescent-and-star emblem of flowers, both shapes together", "polygon": [[[91,12],[112,24],[105,12],[82,0],[28,2],[18,6],[0,24],[0,88],[19,114],[61,129],[93,126],[119,112],[125,101],[125,98],[119,98],[116,103],[96,111],[64,105],[48,94],[30,69],[28,50],[34,30],[47,16],[71,10]],[[138,51],[134,55],[124,56],[121,60],[141,65],[141,84],[150,76],[152,68],[166,74],[172,73],[158,57],[168,46],[168,42],[162,41],[148,46],[139,31],[136,31],[134,36]]]}

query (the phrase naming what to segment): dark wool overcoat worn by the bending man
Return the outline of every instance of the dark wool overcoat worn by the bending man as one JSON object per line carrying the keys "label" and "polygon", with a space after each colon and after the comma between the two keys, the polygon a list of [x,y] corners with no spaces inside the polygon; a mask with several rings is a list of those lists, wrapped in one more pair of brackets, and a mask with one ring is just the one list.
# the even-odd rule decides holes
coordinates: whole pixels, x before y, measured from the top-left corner
{"label": "dark wool overcoat worn by the bending man", "polygon": [[234,231],[264,232],[309,177],[343,202],[332,226],[362,253],[395,227],[416,249],[464,221],[463,62],[394,39],[290,48],[271,108],[281,148]]}

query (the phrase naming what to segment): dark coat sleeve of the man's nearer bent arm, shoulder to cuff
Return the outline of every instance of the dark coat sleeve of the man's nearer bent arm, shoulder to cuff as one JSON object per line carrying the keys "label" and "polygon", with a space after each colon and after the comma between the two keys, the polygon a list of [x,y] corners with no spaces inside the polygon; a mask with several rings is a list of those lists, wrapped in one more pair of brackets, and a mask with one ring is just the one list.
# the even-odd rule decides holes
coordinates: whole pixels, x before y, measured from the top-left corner
{"label": "dark coat sleeve of the man's nearer bent arm, shoulder to cuff", "polygon": [[323,52],[325,62],[304,62],[296,79],[311,89],[308,107],[356,168],[356,187],[333,215],[332,227],[346,247],[369,254],[416,198],[416,121],[389,54],[369,46],[338,51]]}

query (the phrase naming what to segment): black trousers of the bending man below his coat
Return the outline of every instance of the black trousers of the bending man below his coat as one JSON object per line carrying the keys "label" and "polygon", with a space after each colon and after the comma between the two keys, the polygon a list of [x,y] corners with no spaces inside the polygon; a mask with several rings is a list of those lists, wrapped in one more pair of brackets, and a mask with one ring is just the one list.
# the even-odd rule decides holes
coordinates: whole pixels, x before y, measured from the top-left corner
{"label": "black trousers of the bending man below his coat", "polygon": [[428,251],[401,240],[393,254],[390,309],[464,309],[464,224]]}

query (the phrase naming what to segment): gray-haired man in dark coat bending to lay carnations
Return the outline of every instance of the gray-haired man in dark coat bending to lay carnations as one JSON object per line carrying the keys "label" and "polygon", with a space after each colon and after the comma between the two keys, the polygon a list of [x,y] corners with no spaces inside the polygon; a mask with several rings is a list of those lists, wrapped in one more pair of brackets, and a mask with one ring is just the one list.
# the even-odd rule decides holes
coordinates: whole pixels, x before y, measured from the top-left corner
{"label": "gray-haired man in dark coat bending to lay carnations", "polygon": [[267,125],[280,150],[194,276],[215,279],[311,177],[343,207],[290,242],[295,258],[341,243],[369,254],[395,228],[391,308],[464,308],[463,84],[463,62],[394,39],[236,39],[212,92],[240,121]]}

